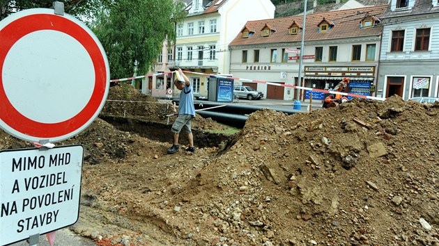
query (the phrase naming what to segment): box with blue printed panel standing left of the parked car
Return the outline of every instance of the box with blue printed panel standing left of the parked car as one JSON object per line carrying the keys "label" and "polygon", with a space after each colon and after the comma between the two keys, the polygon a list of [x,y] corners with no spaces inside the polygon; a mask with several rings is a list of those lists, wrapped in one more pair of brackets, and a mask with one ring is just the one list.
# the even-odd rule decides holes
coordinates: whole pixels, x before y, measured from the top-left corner
{"label": "box with blue printed panel standing left of the parked car", "polygon": [[233,79],[231,75],[210,76],[208,84],[208,101],[233,101]]}

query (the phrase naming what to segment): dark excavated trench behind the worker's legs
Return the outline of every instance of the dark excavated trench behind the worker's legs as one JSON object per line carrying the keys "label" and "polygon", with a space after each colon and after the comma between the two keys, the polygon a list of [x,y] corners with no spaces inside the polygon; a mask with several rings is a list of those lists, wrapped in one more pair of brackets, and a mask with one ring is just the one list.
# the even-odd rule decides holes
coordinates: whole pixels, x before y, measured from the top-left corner
{"label": "dark excavated trench behind the worker's legs", "polygon": [[[148,122],[145,120],[113,115],[101,114],[99,117],[121,131],[137,133],[139,136],[151,140],[172,143],[173,134],[171,133],[171,124]],[[192,133],[194,135],[194,143],[197,147],[219,147],[220,149],[226,149],[236,142],[236,134],[226,136],[219,133],[200,131],[199,129],[192,129]],[[183,135],[180,136],[179,142],[181,145],[188,144],[187,138]]]}

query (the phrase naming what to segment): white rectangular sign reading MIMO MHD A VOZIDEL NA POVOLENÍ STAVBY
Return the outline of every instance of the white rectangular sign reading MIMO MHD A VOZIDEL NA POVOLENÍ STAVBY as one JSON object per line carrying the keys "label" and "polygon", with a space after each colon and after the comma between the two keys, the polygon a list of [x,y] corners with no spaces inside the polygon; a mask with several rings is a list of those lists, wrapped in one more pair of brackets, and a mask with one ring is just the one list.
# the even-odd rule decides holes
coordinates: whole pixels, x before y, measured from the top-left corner
{"label": "white rectangular sign reading MIMO MHD A VOZIDEL NA POVOLEN\u00cd STAVBY", "polygon": [[75,224],[82,145],[0,151],[0,245]]}

